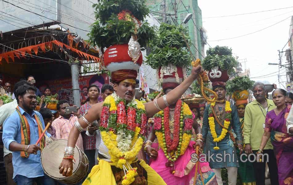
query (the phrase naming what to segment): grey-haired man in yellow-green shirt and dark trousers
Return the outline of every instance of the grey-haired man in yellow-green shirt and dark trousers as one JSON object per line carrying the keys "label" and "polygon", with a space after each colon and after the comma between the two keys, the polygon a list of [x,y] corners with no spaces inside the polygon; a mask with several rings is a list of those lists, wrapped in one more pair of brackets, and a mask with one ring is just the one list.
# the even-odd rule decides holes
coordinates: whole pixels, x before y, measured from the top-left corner
{"label": "grey-haired man in yellow-green shirt and dark trousers", "polygon": [[[253,85],[253,95],[256,100],[246,106],[244,113],[243,135],[247,155],[257,152],[264,133],[266,113],[276,108],[272,100],[265,98],[266,89],[263,83],[257,82]],[[268,154],[269,158],[264,157],[262,162],[253,163],[256,184],[265,185],[266,162],[268,162],[271,184],[279,185],[277,162],[270,140],[263,153]]]}

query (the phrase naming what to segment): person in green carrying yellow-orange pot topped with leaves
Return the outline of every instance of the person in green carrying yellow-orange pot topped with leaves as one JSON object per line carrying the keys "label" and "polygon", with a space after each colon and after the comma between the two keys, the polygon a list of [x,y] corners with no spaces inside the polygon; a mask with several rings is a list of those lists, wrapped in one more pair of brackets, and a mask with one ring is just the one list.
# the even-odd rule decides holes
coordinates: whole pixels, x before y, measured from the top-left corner
{"label": "person in green carrying yellow-orange pot topped with leaves", "polygon": [[[237,76],[233,80],[228,81],[227,83],[227,91],[233,92],[232,98],[236,101],[236,107],[238,116],[240,119],[241,130],[242,130],[242,138],[243,138],[243,126],[244,126],[244,113],[245,107],[248,104],[248,89],[251,89],[254,84],[254,81],[250,80],[248,76]],[[236,140],[238,140],[236,138]],[[243,146],[244,148],[245,146]],[[255,177],[254,177],[254,169],[252,163],[247,160],[247,156],[243,155],[240,160],[241,150],[236,148],[237,157],[239,162],[238,174],[241,178],[242,185],[256,185]],[[245,161],[246,162],[242,162]]]}

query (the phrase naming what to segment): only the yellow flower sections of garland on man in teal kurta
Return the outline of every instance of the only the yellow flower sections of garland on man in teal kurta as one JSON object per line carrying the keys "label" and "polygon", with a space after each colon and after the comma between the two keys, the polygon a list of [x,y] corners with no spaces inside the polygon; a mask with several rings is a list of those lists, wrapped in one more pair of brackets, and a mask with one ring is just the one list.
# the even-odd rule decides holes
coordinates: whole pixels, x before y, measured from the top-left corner
{"label": "only the yellow flower sections of garland on man in teal kurta", "polygon": [[[214,107],[216,105],[215,102],[211,103],[211,107]],[[211,108],[212,109],[212,108]],[[231,107],[230,107],[230,102],[229,101],[226,101],[226,105],[225,105],[225,111],[232,111]],[[220,142],[222,141],[227,132],[228,132],[228,129],[229,129],[229,125],[230,125],[230,121],[224,121],[224,127],[222,129],[222,132],[221,132],[221,135],[219,137],[217,137],[217,133],[216,133],[216,127],[215,127],[215,118],[214,117],[208,117],[208,124],[210,126],[210,130],[211,130],[211,134],[213,136],[213,141],[216,142],[216,145],[217,145],[217,142]],[[215,146],[214,147],[214,150],[219,150],[220,148],[218,146]]]}

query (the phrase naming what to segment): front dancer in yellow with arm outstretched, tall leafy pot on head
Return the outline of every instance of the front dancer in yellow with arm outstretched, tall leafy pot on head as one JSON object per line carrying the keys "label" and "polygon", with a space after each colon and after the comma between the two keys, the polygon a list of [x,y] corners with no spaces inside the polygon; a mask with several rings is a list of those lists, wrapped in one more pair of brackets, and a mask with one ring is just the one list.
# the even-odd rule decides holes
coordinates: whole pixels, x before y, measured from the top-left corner
{"label": "front dancer in yellow with arm outstretched, tall leafy pot on head", "polygon": [[[142,64],[140,47],[146,47],[146,41],[154,36],[148,24],[141,23],[149,12],[147,6],[142,4],[145,0],[139,4],[136,2],[105,0],[104,3],[95,5],[99,20],[93,25],[90,39],[101,48],[107,47],[103,52],[103,65],[111,72],[115,92],[106,97],[104,102],[95,104],[74,123],[75,127],[69,134],[64,158],[59,166],[59,172],[63,176],[72,175],[75,170],[72,162],[75,138],[97,120],[101,133],[99,163],[92,168],[84,185],[165,185],[151,167],[143,160],[137,160],[144,140],[147,117],[152,117],[175,103],[201,72],[200,66],[192,68],[191,75],[186,80],[168,95],[155,101],[142,104],[134,99],[137,70]],[[115,3],[117,6],[113,6]]]}

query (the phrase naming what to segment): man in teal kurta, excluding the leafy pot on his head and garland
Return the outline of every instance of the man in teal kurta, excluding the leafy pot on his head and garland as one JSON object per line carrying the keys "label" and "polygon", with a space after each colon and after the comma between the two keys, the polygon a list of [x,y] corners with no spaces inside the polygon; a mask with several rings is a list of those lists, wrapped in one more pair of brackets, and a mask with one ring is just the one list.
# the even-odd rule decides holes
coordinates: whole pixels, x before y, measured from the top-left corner
{"label": "man in teal kurta, excluding the leafy pot on his head and garland", "polygon": [[[225,83],[213,83],[213,91],[215,91],[218,95],[218,100],[225,100],[225,94],[226,94],[226,88]],[[217,133],[217,137],[221,135],[222,132],[222,126],[224,125],[225,120],[225,105],[226,103],[216,103],[214,106],[214,115],[215,118],[215,131]],[[222,178],[221,178],[221,168],[227,168],[228,171],[228,181],[229,185],[236,185],[237,181],[237,167],[238,165],[238,159],[237,159],[237,153],[236,148],[233,144],[232,137],[230,136],[229,132],[231,131],[231,127],[233,128],[234,133],[237,137],[237,141],[235,141],[238,145],[238,148],[242,151],[242,132],[241,132],[241,124],[239,121],[237,108],[234,105],[230,105],[231,111],[231,119],[230,119],[230,125],[229,125],[229,132],[225,135],[225,138],[222,139],[220,142],[213,142],[213,136],[211,134],[211,129],[208,123],[208,117],[211,105],[208,105],[204,110],[204,119],[203,119],[203,125],[202,125],[202,134],[203,139],[205,142],[204,150],[205,154],[211,156],[209,159],[209,165],[212,168],[212,170],[216,174],[217,183],[218,185],[223,185]],[[223,115],[224,114],[224,115]],[[221,125],[218,124],[216,117],[219,121],[221,121]],[[233,133],[232,133],[233,134]],[[218,146],[220,149],[215,150],[214,147]]]}

